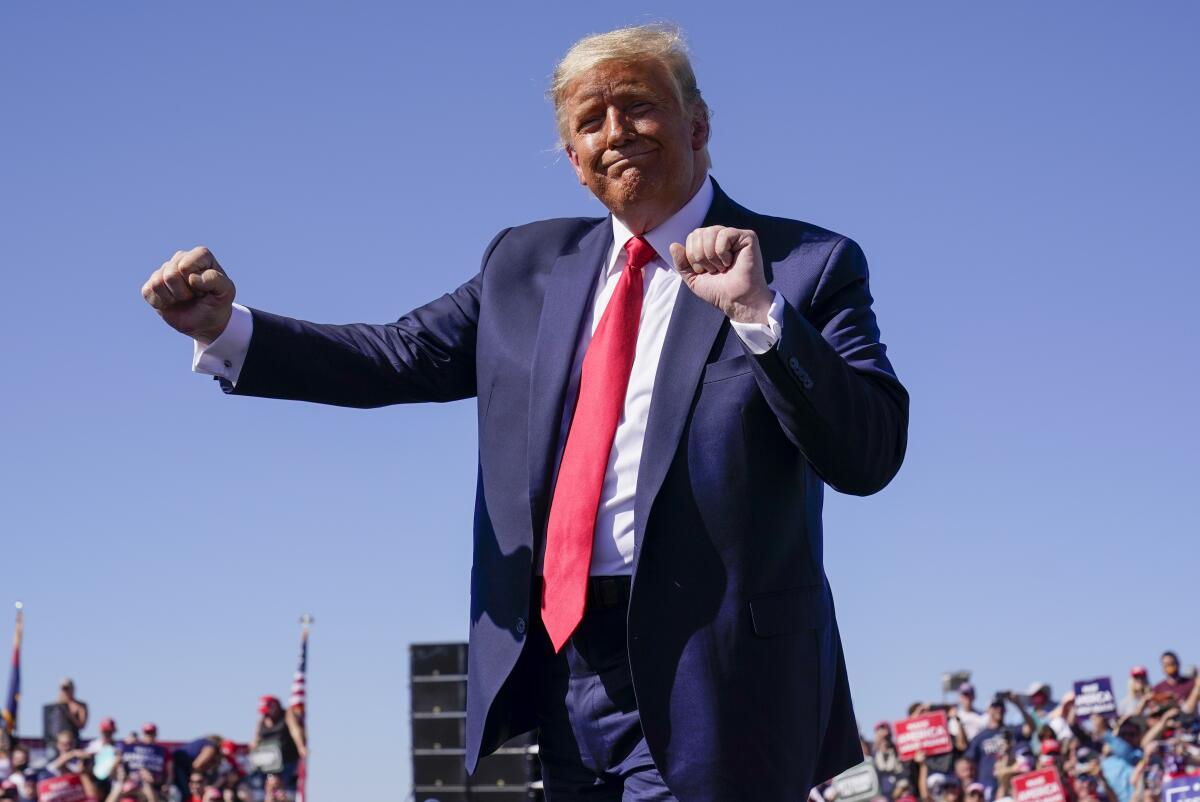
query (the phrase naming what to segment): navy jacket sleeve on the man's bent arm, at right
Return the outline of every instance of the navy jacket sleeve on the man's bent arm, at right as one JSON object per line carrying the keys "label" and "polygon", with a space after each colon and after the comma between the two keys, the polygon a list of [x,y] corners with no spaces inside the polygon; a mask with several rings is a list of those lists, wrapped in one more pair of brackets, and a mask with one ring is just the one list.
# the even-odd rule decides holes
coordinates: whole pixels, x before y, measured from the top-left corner
{"label": "navy jacket sleeve on the man's bent arm, at right", "polygon": [[785,299],[775,348],[751,353],[758,385],[787,438],[830,487],[856,496],[892,480],[908,441],[908,393],[880,342],[871,301],[866,257],[842,238],[809,313]]}

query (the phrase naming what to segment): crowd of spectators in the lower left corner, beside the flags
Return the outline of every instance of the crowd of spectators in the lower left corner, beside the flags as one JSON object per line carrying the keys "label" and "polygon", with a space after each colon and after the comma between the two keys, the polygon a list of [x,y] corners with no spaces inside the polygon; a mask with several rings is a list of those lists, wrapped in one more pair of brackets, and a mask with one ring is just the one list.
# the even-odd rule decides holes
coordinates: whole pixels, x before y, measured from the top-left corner
{"label": "crowd of spectators in the lower left corner, beside the flags", "polygon": [[64,680],[47,707],[53,730],[43,740],[0,743],[0,801],[292,802],[302,782],[304,707],[286,708],[275,696],[259,700],[247,744],[220,735],[168,743],[154,723],[122,735],[113,718],[84,740],[88,720],[86,702]]}

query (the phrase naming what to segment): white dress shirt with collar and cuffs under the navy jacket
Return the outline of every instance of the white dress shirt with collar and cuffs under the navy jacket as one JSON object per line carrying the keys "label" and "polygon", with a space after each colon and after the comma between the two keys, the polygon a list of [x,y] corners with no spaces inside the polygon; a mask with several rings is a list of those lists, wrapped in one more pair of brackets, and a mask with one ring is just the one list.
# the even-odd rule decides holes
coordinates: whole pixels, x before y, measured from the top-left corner
{"label": "white dress shirt with collar and cuffs under the navy jacket", "polygon": [[[608,466],[605,468],[604,486],[600,490],[600,508],[596,511],[595,537],[592,541],[593,576],[628,575],[634,569],[634,496],[637,491],[637,468],[642,461],[642,441],[646,423],[650,415],[650,396],[659,357],[666,342],[667,325],[674,309],[676,297],[683,279],[671,262],[671,244],[684,243],[694,229],[700,228],[713,203],[713,182],[707,179],[691,200],[656,228],[642,237],[654,249],[656,256],[643,270],[642,319],[637,329],[637,348],[634,366],[625,390],[625,408],[617,423]],[[580,371],[583,354],[592,342],[592,335],[600,324],[608,299],[617,289],[617,282],[625,267],[625,243],[632,237],[617,217],[612,220],[612,250],[596,277],[596,291],[592,303],[590,325],[583,327],[575,347],[575,360],[564,405],[559,430],[559,448],[566,442],[571,412],[578,395]],[[733,330],[754,353],[764,353],[779,341],[782,300],[776,293],[768,313],[769,323],[738,323],[731,321]],[[198,373],[220,376],[236,384],[241,366],[246,360],[253,321],[250,310],[234,304],[229,324],[220,337],[208,347],[196,343],[192,370]],[[542,555],[539,551],[536,570],[541,573]]]}

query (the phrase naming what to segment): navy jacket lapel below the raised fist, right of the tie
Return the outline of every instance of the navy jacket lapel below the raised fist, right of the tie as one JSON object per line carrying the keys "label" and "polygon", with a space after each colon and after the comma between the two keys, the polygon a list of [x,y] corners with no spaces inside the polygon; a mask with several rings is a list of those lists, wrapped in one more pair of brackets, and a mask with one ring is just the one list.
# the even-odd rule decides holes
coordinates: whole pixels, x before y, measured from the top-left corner
{"label": "navy jacket lapel below the raised fist, right of the tie", "polygon": [[[713,205],[704,216],[703,225],[736,225],[738,207],[715,180],[713,190]],[[725,322],[725,315],[719,309],[694,295],[686,285],[679,287],[654,377],[650,413],[646,424],[646,438],[642,441],[642,461],[637,469],[637,495],[634,501],[637,555],[642,551],[650,508],[679,449],[679,438],[688,423],[708,354]]]}

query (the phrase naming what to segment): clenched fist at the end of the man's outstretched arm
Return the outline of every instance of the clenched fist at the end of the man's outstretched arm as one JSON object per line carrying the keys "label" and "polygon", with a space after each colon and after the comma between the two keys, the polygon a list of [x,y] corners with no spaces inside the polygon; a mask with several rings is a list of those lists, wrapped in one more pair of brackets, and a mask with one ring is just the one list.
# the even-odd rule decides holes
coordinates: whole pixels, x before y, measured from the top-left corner
{"label": "clenched fist at the end of the man's outstretched arm", "polygon": [[142,297],[167,325],[202,345],[221,336],[233,315],[236,288],[203,245],[175,251],[142,286]]}

